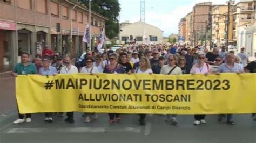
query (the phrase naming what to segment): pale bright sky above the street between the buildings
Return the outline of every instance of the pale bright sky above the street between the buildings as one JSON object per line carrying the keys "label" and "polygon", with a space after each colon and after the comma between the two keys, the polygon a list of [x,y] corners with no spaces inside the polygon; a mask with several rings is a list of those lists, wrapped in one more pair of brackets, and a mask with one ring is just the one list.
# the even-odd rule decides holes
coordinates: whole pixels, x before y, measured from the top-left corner
{"label": "pale bright sky above the street between the buildings", "polygon": [[[145,23],[154,25],[164,31],[164,36],[178,34],[178,23],[181,18],[192,11],[200,2],[225,4],[225,0],[145,0]],[[239,0],[235,0],[239,2]],[[120,21],[130,23],[140,20],[140,0],[119,0],[121,5]]]}

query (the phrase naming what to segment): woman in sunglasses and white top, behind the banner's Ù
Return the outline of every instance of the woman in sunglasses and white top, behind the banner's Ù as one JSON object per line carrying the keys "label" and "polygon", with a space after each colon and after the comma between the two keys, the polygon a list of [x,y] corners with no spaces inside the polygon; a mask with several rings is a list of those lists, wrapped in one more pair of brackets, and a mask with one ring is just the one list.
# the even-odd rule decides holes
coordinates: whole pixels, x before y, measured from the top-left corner
{"label": "woman in sunglasses and white top, behind the banner's \u00d9", "polygon": [[[85,62],[86,62],[86,66],[83,67],[80,71],[80,73],[83,73],[83,74],[97,74],[99,73],[98,69],[96,67],[93,67],[92,63],[93,63],[93,59],[92,57],[87,57],[85,59]],[[91,119],[90,119],[90,115],[93,115],[93,118],[97,119],[98,118],[98,115],[97,113],[84,113],[85,115],[85,123],[90,123]]]}

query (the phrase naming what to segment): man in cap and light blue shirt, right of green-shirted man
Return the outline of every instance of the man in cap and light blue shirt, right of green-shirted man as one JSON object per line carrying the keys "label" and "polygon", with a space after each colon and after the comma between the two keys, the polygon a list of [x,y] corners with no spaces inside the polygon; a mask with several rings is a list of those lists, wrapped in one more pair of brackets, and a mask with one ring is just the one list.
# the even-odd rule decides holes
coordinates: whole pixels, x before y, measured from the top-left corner
{"label": "man in cap and light blue shirt, right of green-shirted man", "polygon": [[[43,67],[39,70],[39,74],[40,75],[57,75],[58,71],[56,70],[55,67],[51,67],[51,59],[49,58],[49,56],[46,56],[43,58]],[[53,113],[45,113],[45,119],[44,121],[48,122],[48,123],[52,123],[53,119],[52,119]]]}

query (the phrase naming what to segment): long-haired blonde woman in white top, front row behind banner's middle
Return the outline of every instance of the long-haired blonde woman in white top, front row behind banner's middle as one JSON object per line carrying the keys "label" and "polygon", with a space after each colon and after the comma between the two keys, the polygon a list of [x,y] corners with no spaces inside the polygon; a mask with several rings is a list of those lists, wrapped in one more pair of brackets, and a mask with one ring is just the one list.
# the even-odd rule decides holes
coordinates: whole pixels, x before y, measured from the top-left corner
{"label": "long-haired blonde woman in white top, front row behind banner's middle", "polygon": [[[151,69],[151,65],[150,65],[150,61],[149,59],[147,59],[146,57],[142,57],[140,58],[139,61],[139,67],[137,67],[135,69],[135,74],[152,74],[153,71]],[[139,124],[142,126],[145,126],[145,118],[146,118],[146,114],[139,114],[140,118],[139,118]]]}

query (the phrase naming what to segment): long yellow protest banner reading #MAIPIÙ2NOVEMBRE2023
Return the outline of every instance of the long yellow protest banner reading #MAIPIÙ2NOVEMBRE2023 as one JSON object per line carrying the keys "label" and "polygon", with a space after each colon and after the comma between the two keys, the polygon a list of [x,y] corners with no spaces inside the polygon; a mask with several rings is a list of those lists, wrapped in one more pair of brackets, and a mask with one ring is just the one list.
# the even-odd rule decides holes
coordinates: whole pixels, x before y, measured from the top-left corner
{"label": "long yellow protest banner reading #MAIPI\u00d92NOVEMBRE2023", "polygon": [[72,74],[16,78],[21,113],[253,113],[256,74]]}

